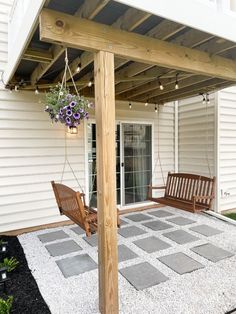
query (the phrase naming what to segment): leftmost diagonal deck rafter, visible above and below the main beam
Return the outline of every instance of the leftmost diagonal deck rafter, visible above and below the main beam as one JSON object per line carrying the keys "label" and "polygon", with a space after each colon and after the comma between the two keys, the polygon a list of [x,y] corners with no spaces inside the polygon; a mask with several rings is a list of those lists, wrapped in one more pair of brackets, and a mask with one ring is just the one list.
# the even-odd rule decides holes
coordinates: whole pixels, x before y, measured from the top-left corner
{"label": "leftmost diagonal deck rafter, visible above and below the main beam", "polygon": [[[109,0],[86,0],[83,5],[77,10],[75,16],[92,19],[96,16]],[[31,84],[35,85],[41,77],[51,68],[51,66],[58,60],[58,58],[64,53],[65,47],[58,46],[57,44],[52,45],[49,52],[53,56],[53,60],[50,63],[39,63],[36,69],[31,74]]]}

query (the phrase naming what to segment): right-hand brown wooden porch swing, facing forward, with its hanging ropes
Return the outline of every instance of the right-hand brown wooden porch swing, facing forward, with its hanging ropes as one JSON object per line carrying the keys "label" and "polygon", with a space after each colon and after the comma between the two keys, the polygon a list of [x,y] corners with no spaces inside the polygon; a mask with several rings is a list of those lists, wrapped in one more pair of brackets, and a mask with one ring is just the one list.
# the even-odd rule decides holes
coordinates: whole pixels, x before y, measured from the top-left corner
{"label": "right-hand brown wooden porch swing, facing forward, with its hanging ropes", "polygon": [[[207,103],[206,103],[206,116],[208,120]],[[215,198],[215,177],[211,177],[211,169],[207,151],[206,160],[210,177],[190,173],[168,172],[167,181],[165,183],[159,149],[159,107],[158,107],[157,133],[158,133],[157,161],[159,161],[160,164],[163,186],[153,186],[152,184],[150,184],[148,186],[147,196],[148,200],[190,212],[211,209],[212,202]],[[207,138],[206,143],[208,146],[208,129],[206,138]],[[153,197],[153,190],[160,189],[164,189],[164,196]]]}

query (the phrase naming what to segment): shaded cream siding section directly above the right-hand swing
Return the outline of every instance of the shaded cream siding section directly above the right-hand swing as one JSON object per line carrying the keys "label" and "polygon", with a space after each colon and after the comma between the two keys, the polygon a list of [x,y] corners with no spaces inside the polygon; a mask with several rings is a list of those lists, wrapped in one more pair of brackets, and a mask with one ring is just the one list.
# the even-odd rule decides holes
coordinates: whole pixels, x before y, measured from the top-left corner
{"label": "shaded cream siding section directly above the right-hand swing", "polygon": [[[215,100],[202,103],[197,96],[179,101],[179,172],[215,175]],[[211,171],[209,172],[207,156]]]}

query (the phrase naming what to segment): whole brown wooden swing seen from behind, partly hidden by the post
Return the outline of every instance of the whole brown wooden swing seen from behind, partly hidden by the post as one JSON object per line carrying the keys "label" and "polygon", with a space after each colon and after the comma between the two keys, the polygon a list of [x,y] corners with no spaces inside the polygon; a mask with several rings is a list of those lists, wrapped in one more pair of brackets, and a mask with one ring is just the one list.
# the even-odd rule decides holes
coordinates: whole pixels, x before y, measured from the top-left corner
{"label": "whole brown wooden swing seen from behind, partly hidden by the post", "polygon": [[[76,192],[68,186],[51,181],[61,215],[65,215],[85,230],[86,236],[97,232],[97,211],[85,204],[84,193]],[[120,226],[117,210],[117,226]]]}

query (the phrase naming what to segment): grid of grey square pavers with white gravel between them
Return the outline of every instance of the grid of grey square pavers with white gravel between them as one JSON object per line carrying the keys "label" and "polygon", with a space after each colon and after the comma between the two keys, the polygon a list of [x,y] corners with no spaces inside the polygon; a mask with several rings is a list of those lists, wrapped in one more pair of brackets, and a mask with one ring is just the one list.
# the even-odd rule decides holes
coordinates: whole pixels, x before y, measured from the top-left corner
{"label": "grid of grey square pavers with white gravel between them", "polygon": [[[124,216],[125,220],[121,219],[121,228],[118,229],[118,239],[121,242],[118,245],[118,262],[122,263],[122,268],[119,272],[135,289],[147,289],[171,279],[170,275],[165,275],[163,268],[160,272],[158,266],[154,266],[155,262],[151,265],[150,258],[175,273],[184,275],[208,267],[207,264],[204,265],[202,259],[201,263],[195,260],[192,254],[200,255],[203,260],[211,262],[218,262],[233,255],[209,243],[211,240],[209,237],[217,236],[223,232],[222,230],[198,224],[194,218],[192,219],[192,215],[187,218],[177,213],[173,212],[173,209],[171,212],[169,209],[158,209],[129,214]],[[133,239],[136,236],[138,240]],[[94,253],[97,254],[97,234],[86,237],[81,227],[74,226],[69,228],[68,233],[66,229],[47,232],[39,234],[38,239],[48,250],[51,258],[55,259],[65,278],[97,269],[96,259],[93,259]],[[203,239],[206,243],[198,245],[198,241]],[[182,251],[185,245],[193,252],[191,257],[188,250]],[[172,247],[175,248],[175,252],[172,250],[171,254],[167,254]],[[92,255],[90,251],[93,252]],[[125,267],[126,262],[132,264]]]}

